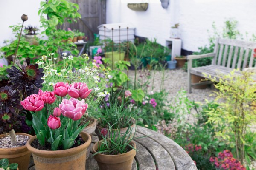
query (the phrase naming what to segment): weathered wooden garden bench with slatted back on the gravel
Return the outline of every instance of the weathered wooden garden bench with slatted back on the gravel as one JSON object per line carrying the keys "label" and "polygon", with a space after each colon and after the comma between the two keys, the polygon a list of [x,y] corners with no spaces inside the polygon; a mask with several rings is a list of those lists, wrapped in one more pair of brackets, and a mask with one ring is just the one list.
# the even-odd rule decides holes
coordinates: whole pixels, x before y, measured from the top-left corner
{"label": "weathered wooden garden bench with slatted back on the gravel", "polygon": [[[204,74],[216,77],[228,74],[235,68],[240,70],[244,68],[256,67],[253,58],[253,50],[256,48],[256,42],[248,42],[231,39],[218,39],[215,42],[213,53],[202,55],[189,55],[188,60],[188,92],[191,93],[191,87],[194,85],[209,84],[211,82],[191,83],[191,74],[207,78]],[[205,57],[214,57],[211,65],[192,68],[192,59],[201,59]],[[203,74],[204,73],[204,74]],[[239,72],[237,72],[239,74]]]}

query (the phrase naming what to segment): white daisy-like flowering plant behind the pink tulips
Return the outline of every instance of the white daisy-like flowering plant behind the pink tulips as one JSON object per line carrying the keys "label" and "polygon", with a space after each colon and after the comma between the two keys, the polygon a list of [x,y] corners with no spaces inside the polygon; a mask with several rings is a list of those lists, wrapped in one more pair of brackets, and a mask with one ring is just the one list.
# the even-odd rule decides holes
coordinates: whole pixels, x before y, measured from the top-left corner
{"label": "white daisy-like flowering plant behind the pink tulips", "polygon": [[87,97],[87,103],[90,106],[87,109],[89,116],[95,116],[96,111],[99,111],[99,105],[105,97],[109,97],[112,83],[109,79],[110,69],[101,68],[96,65],[95,61],[90,61],[87,54],[83,55],[83,63],[80,63],[80,68],[73,67],[73,60],[75,57],[62,53],[62,61],[58,62],[54,58],[54,54],[42,56],[38,61],[38,65],[44,68],[45,75],[43,91],[53,91],[57,82],[64,82],[68,84],[75,84],[76,82],[85,82],[88,89],[92,89],[90,95]]}

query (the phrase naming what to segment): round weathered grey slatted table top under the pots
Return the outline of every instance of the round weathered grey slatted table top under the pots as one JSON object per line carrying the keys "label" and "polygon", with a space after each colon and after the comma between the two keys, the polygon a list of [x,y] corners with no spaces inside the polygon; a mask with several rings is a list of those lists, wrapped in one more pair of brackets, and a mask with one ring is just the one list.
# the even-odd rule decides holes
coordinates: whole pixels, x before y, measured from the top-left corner
{"label": "round weathered grey slatted table top under the pots", "polygon": [[[142,136],[146,137],[138,138]],[[94,134],[92,144],[98,140]],[[137,126],[134,141],[138,151],[132,170],[197,170],[188,153],[172,139],[160,133]],[[96,160],[91,155],[92,152],[86,160],[86,170],[99,170]],[[29,170],[35,170],[32,157]]]}

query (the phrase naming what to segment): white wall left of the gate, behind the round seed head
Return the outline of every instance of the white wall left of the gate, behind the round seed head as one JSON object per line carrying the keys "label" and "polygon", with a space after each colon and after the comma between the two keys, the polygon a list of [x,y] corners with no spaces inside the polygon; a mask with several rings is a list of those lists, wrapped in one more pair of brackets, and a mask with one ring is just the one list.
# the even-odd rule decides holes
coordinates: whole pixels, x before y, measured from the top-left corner
{"label": "white wall left of the gate, behind the round seed head", "polygon": [[9,26],[22,23],[21,16],[28,15],[24,26],[32,25],[40,27],[38,9],[42,0],[0,0],[0,46],[4,40],[11,40],[14,35]]}

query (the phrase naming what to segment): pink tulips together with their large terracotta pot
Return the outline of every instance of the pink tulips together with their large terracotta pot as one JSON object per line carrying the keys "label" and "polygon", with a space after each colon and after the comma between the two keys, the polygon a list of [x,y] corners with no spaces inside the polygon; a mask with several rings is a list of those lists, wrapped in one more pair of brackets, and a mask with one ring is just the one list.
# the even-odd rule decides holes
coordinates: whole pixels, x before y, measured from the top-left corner
{"label": "pink tulips together with their large terracotta pot", "polygon": [[[82,96],[76,93],[79,87]],[[73,97],[67,99],[67,94]],[[84,101],[88,94],[90,91],[85,83],[69,85],[58,82],[54,91],[40,90],[21,102],[33,116],[36,136],[29,139],[27,147],[34,157],[36,169],[85,170],[86,150],[91,137],[83,132],[89,122],[81,124],[81,118],[88,108]]]}

